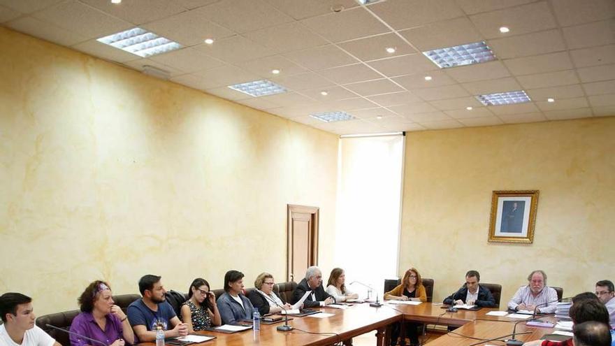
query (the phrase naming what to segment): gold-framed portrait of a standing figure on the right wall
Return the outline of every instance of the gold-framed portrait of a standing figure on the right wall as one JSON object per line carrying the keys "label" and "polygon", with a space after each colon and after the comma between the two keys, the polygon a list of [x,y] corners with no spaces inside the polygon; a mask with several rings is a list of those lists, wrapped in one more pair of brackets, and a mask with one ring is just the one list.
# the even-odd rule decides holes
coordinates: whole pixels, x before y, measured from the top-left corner
{"label": "gold-framed portrait of a standing figure on the right wall", "polygon": [[533,243],[538,190],[494,191],[489,241]]}

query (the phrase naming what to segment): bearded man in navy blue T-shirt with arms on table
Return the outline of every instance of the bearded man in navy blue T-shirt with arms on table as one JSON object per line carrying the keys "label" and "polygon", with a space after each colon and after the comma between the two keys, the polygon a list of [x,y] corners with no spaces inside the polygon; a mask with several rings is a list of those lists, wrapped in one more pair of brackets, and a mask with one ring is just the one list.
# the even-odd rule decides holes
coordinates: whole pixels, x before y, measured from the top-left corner
{"label": "bearded man in navy blue T-shirt with arms on table", "polygon": [[[128,307],[128,320],[135,336],[141,343],[156,340],[156,330],[161,326],[165,338],[187,336],[186,324],[180,322],[167,301],[160,277],[145,275],[139,280],[139,291],[143,298],[133,301]],[[173,329],[169,329],[170,327]]]}

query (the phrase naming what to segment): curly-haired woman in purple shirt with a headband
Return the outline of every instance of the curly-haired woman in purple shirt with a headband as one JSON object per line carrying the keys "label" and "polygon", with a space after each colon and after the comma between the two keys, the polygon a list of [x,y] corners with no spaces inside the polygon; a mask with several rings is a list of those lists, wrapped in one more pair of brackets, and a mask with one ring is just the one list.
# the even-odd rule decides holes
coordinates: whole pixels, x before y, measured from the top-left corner
{"label": "curly-haired woman in purple shirt with a headband", "polygon": [[[109,285],[100,280],[89,284],[78,299],[81,313],[73,319],[71,331],[110,346],[131,345],[135,341],[128,317],[115,305]],[[92,345],[92,341],[71,334],[72,346]]]}

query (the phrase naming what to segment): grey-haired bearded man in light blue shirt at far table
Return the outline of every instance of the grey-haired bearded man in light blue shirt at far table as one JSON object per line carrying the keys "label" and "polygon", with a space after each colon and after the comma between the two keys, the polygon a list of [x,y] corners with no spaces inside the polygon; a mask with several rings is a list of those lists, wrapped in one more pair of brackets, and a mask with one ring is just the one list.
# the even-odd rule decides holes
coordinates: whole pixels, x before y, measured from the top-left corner
{"label": "grey-haired bearded man in light blue shirt at far table", "polygon": [[508,308],[552,314],[557,309],[557,301],[557,292],[547,286],[547,274],[544,271],[533,271],[528,275],[528,284],[519,287],[508,302]]}

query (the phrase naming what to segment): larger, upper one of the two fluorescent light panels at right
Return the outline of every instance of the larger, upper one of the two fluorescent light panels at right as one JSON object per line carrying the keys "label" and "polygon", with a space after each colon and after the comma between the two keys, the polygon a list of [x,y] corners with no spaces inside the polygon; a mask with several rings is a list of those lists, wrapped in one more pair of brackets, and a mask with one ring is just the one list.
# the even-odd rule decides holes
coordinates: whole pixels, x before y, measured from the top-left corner
{"label": "larger, upper one of the two fluorescent light panels at right", "polygon": [[484,41],[428,50],[423,52],[423,54],[439,66],[440,69],[495,60],[495,55],[493,55],[491,48]]}

